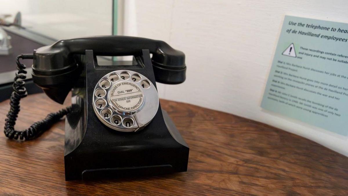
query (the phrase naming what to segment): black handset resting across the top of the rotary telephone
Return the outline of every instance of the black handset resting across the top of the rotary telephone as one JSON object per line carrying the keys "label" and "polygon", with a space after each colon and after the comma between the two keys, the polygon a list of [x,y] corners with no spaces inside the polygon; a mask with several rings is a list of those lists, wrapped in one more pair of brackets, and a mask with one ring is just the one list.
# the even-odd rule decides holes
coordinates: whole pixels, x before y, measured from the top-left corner
{"label": "black handset resting across the top of the rotary telephone", "polygon": [[179,84],[185,81],[185,55],[167,43],[139,37],[95,36],[60,40],[38,48],[34,51],[33,82],[48,97],[62,104],[82,70],[75,54],[84,55],[86,50],[93,50],[94,55],[100,56],[137,56],[144,49],[152,54],[156,82]]}

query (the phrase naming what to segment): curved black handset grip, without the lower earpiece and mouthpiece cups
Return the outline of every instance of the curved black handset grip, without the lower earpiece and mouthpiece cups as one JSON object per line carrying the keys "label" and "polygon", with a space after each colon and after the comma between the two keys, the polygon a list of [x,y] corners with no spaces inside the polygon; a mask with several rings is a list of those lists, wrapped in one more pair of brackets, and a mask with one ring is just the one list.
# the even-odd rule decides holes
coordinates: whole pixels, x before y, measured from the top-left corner
{"label": "curved black handset grip, without the lower earpiece and mouthpiece cups", "polygon": [[44,46],[35,52],[35,70],[56,70],[74,64],[72,54],[85,54],[93,50],[95,55],[125,56],[137,55],[148,49],[152,53],[155,66],[168,69],[185,68],[185,54],[173,49],[167,43],[128,36],[95,36],[60,40],[53,45]]}

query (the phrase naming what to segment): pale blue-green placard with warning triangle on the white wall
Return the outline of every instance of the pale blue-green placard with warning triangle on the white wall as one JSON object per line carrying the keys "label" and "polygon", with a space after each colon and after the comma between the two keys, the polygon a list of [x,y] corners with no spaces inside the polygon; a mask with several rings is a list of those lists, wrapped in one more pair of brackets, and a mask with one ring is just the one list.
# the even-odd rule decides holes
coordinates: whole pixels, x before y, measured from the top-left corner
{"label": "pale blue-green placard with warning triangle on the white wall", "polygon": [[285,16],[261,107],[348,136],[348,24]]}

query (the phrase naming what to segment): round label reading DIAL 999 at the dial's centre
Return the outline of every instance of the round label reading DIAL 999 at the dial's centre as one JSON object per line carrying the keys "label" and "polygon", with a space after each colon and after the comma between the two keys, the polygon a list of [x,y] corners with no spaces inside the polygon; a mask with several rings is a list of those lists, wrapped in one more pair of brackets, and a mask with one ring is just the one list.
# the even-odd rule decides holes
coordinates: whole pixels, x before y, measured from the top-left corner
{"label": "round label reading DIAL 999 at the dial's centre", "polygon": [[144,93],[133,82],[118,82],[111,87],[109,100],[119,111],[134,112],[144,103]]}

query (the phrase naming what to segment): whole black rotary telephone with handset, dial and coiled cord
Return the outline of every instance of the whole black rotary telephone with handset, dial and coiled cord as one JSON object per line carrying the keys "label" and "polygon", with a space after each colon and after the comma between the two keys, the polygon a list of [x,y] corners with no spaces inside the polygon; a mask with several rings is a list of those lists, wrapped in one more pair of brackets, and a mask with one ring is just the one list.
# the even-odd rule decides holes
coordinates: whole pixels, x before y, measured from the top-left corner
{"label": "whole black rotary telephone with handset, dial and coiled cord", "polygon": [[[133,61],[98,65],[97,55],[133,55]],[[62,104],[72,91],[71,106],[23,131],[14,130],[19,101],[27,96],[20,59],[33,59],[33,82],[54,101]],[[181,51],[159,40],[98,36],[61,40],[16,62],[5,135],[32,140],[66,115],[65,180],[187,171],[189,148],[161,109],[156,88],[156,82],[184,82]]]}

